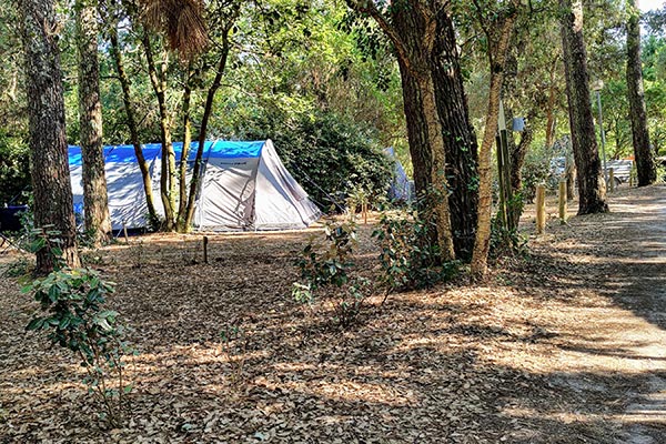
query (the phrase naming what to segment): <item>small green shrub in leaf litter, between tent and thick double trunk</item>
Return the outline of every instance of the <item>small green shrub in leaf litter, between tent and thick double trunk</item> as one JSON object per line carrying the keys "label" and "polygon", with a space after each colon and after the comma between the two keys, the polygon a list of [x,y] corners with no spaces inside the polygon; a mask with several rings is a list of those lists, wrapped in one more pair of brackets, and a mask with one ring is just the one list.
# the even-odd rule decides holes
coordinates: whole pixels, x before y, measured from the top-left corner
{"label": "small green shrub in leaf litter, between tent and thick double trunk", "polygon": [[370,281],[351,274],[355,243],[356,226],[353,222],[329,222],[324,242],[312,239],[295,262],[301,282],[293,284],[294,300],[307,305],[314,304],[317,299],[331,302],[333,321],[342,329],[349,329],[356,322],[370,294]]}

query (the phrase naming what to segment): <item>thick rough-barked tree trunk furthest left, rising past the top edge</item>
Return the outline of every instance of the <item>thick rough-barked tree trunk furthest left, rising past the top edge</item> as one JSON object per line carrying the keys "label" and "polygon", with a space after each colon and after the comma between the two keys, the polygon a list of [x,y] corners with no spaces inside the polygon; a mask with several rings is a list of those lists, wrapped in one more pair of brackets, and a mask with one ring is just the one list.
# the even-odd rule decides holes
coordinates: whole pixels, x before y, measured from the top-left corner
{"label": "thick rough-barked tree trunk furthest left, rising past the top edge", "polygon": [[[60,23],[51,0],[18,3],[26,51],[34,226],[58,231],[65,264],[79,266],[58,49]],[[41,249],[38,272],[48,273],[53,265],[52,252]]]}

